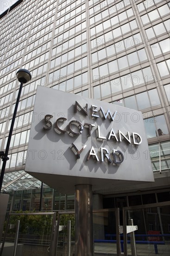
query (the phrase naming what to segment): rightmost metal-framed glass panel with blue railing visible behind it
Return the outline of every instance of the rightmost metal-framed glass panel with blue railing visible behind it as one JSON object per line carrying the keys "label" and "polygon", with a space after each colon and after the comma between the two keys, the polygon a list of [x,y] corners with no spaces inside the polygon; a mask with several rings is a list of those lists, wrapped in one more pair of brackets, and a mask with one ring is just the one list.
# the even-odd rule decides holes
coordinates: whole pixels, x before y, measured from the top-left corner
{"label": "rightmost metal-framed glass panel with blue railing visible behind it", "polygon": [[[170,202],[126,207],[123,209],[123,216],[124,255],[170,255]],[[138,230],[132,233],[128,233],[126,229],[129,219],[133,220],[133,225],[138,226]]]}

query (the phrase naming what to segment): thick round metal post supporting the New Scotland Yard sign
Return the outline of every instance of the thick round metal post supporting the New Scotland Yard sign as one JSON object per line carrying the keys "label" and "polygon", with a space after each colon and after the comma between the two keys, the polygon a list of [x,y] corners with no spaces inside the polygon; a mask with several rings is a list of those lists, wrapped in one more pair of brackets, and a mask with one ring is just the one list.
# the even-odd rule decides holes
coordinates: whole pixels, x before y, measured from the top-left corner
{"label": "thick round metal post supporting the New Scotland Yard sign", "polygon": [[92,186],[76,185],[76,256],[93,256],[93,196]]}

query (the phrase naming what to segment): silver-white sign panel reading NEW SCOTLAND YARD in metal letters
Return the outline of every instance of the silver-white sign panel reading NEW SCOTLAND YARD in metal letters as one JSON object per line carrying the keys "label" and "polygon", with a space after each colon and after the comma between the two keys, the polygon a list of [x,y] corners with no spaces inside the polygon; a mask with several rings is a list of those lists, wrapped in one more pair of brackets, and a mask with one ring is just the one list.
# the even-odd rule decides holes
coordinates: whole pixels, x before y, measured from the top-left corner
{"label": "silver-white sign panel reading NEW SCOTLAND YARD in metal letters", "polygon": [[142,114],[38,86],[25,171],[64,191],[153,182]]}

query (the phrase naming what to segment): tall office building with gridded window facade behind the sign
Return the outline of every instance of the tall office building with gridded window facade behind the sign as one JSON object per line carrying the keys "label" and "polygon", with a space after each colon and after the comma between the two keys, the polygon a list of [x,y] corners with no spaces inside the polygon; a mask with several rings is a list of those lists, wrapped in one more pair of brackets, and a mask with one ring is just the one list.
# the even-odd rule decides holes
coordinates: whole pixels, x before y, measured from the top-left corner
{"label": "tall office building with gridded window facade behind the sign", "polygon": [[[169,4],[19,0],[0,15],[1,151],[19,90],[16,71],[26,68],[32,75],[22,89],[2,185],[2,192],[10,193],[8,211],[39,210],[41,182],[24,171],[38,85],[143,113],[150,149],[144,154],[151,157],[155,182],[94,188],[96,204],[114,208],[170,200]],[[74,209],[74,195],[44,184],[41,209]]]}

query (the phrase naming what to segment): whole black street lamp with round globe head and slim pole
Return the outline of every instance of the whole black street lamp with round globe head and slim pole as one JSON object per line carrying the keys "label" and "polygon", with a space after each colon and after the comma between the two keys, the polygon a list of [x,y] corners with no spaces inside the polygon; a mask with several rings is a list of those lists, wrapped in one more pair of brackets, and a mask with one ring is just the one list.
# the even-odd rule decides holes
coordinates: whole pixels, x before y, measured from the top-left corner
{"label": "whole black street lamp with round globe head and slim pole", "polygon": [[2,158],[3,164],[2,164],[2,169],[1,169],[1,173],[0,173],[0,191],[2,188],[2,182],[3,182],[3,178],[4,178],[4,173],[5,173],[5,168],[6,168],[6,161],[9,159],[8,157],[8,151],[9,151],[9,146],[10,146],[10,142],[11,142],[11,136],[13,133],[13,126],[14,126],[14,122],[15,122],[15,117],[17,114],[17,109],[18,109],[18,105],[19,105],[19,99],[20,99],[20,95],[21,95],[21,91],[22,91],[22,87],[23,84],[29,82],[31,80],[31,74],[28,70],[21,68],[17,71],[16,73],[17,79],[20,82],[20,87],[19,87],[19,93],[17,96],[17,101],[15,104],[15,109],[13,112],[13,119],[11,122],[11,127],[10,127],[10,131],[9,131],[9,135],[8,135],[8,140],[6,143],[6,151],[5,153],[3,151],[0,151],[0,158]]}

